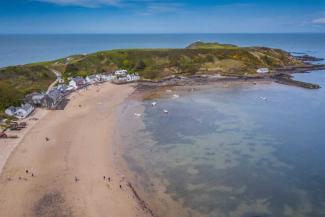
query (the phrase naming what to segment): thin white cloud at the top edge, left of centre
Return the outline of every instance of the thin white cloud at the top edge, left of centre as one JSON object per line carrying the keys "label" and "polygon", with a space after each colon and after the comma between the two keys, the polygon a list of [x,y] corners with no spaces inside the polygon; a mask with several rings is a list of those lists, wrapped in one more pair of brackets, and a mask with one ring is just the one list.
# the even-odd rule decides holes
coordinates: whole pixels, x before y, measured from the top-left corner
{"label": "thin white cloud at the top edge, left of centre", "polygon": [[82,7],[100,7],[105,5],[118,5],[120,0],[36,0],[57,5],[74,5]]}

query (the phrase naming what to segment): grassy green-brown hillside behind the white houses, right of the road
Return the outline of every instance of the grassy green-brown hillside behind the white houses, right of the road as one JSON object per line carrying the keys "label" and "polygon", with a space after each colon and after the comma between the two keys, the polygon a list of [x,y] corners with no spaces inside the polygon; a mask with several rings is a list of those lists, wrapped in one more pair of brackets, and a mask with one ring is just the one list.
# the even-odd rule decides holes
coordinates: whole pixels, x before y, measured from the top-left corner
{"label": "grassy green-brown hillside behind the white houses, right of the road", "polygon": [[260,67],[274,69],[297,64],[302,63],[279,49],[203,42],[196,42],[186,49],[112,50],[56,62],[66,78],[123,68],[156,80],[169,75],[198,73],[249,76]]}

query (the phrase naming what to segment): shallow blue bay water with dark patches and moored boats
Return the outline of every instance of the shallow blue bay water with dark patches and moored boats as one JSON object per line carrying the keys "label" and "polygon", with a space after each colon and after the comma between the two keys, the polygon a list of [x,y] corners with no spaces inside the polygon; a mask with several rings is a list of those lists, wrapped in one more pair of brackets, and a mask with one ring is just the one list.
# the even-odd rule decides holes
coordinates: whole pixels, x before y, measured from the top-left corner
{"label": "shallow blue bay water with dark patches and moored boats", "polygon": [[[325,86],[325,71],[296,78]],[[325,216],[324,89],[244,84],[155,100],[124,111],[145,108],[144,126],[122,133],[144,189],[160,180],[175,200],[211,217]]]}

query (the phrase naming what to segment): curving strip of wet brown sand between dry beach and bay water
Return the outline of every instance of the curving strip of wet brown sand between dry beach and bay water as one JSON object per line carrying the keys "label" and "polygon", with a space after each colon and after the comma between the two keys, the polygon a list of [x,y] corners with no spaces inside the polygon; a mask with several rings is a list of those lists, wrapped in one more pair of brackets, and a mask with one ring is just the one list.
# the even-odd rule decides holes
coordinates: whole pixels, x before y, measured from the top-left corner
{"label": "curving strip of wet brown sand between dry beach and bay water", "polygon": [[[216,85],[221,85],[217,83]],[[114,139],[119,143],[119,146],[115,146],[114,152],[116,152],[115,159],[120,165],[119,170],[129,179],[132,180],[133,186],[136,187],[137,193],[156,216],[160,217],[207,217],[207,215],[199,213],[196,210],[186,206],[183,201],[175,200],[175,198],[168,192],[168,180],[159,179],[153,176],[148,176],[141,168],[138,167],[136,162],[129,161],[125,155],[129,152],[129,149],[138,149],[140,147],[133,147],[134,135],[137,135],[138,131],[146,131],[145,123],[143,122],[145,115],[145,107],[135,102],[142,102],[143,100],[156,100],[157,98],[172,97],[174,93],[179,93],[180,90],[184,92],[192,91],[193,88],[209,88],[208,85],[198,86],[168,86],[157,87],[152,89],[138,89],[135,91],[127,101],[120,107],[120,116],[118,127],[124,129],[120,134],[116,134]],[[166,94],[166,91],[172,91]],[[162,112],[159,108],[152,107],[157,112]],[[140,117],[134,114],[141,114]],[[143,145],[152,144],[154,141],[147,138],[143,141]],[[137,142],[135,142],[137,144]],[[141,160],[140,160],[141,161]],[[144,161],[144,159],[143,159]],[[135,166],[135,167],[134,167]],[[145,165],[142,165],[145,167]],[[139,169],[139,170],[138,170]]]}

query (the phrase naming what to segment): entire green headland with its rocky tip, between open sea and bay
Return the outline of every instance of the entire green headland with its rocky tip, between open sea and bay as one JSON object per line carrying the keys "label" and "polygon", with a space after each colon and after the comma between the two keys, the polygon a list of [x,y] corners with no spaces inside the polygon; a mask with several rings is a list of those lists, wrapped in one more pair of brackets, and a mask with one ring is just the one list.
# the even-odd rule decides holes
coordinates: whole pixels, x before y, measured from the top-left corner
{"label": "entire green headland with its rocky tip, between open sea and bay", "polygon": [[142,81],[147,82],[159,82],[173,76],[220,75],[241,79],[276,77],[280,83],[319,88],[312,84],[291,83],[290,75],[283,74],[324,68],[324,65],[306,62],[312,60],[315,58],[306,55],[296,57],[281,49],[200,41],[184,49],[121,49],[73,55],[55,61],[0,69],[0,112],[3,116],[8,106],[20,105],[29,93],[47,90],[57,79],[54,72],[60,72],[65,82],[77,76],[125,69],[129,73],[137,73]]}

